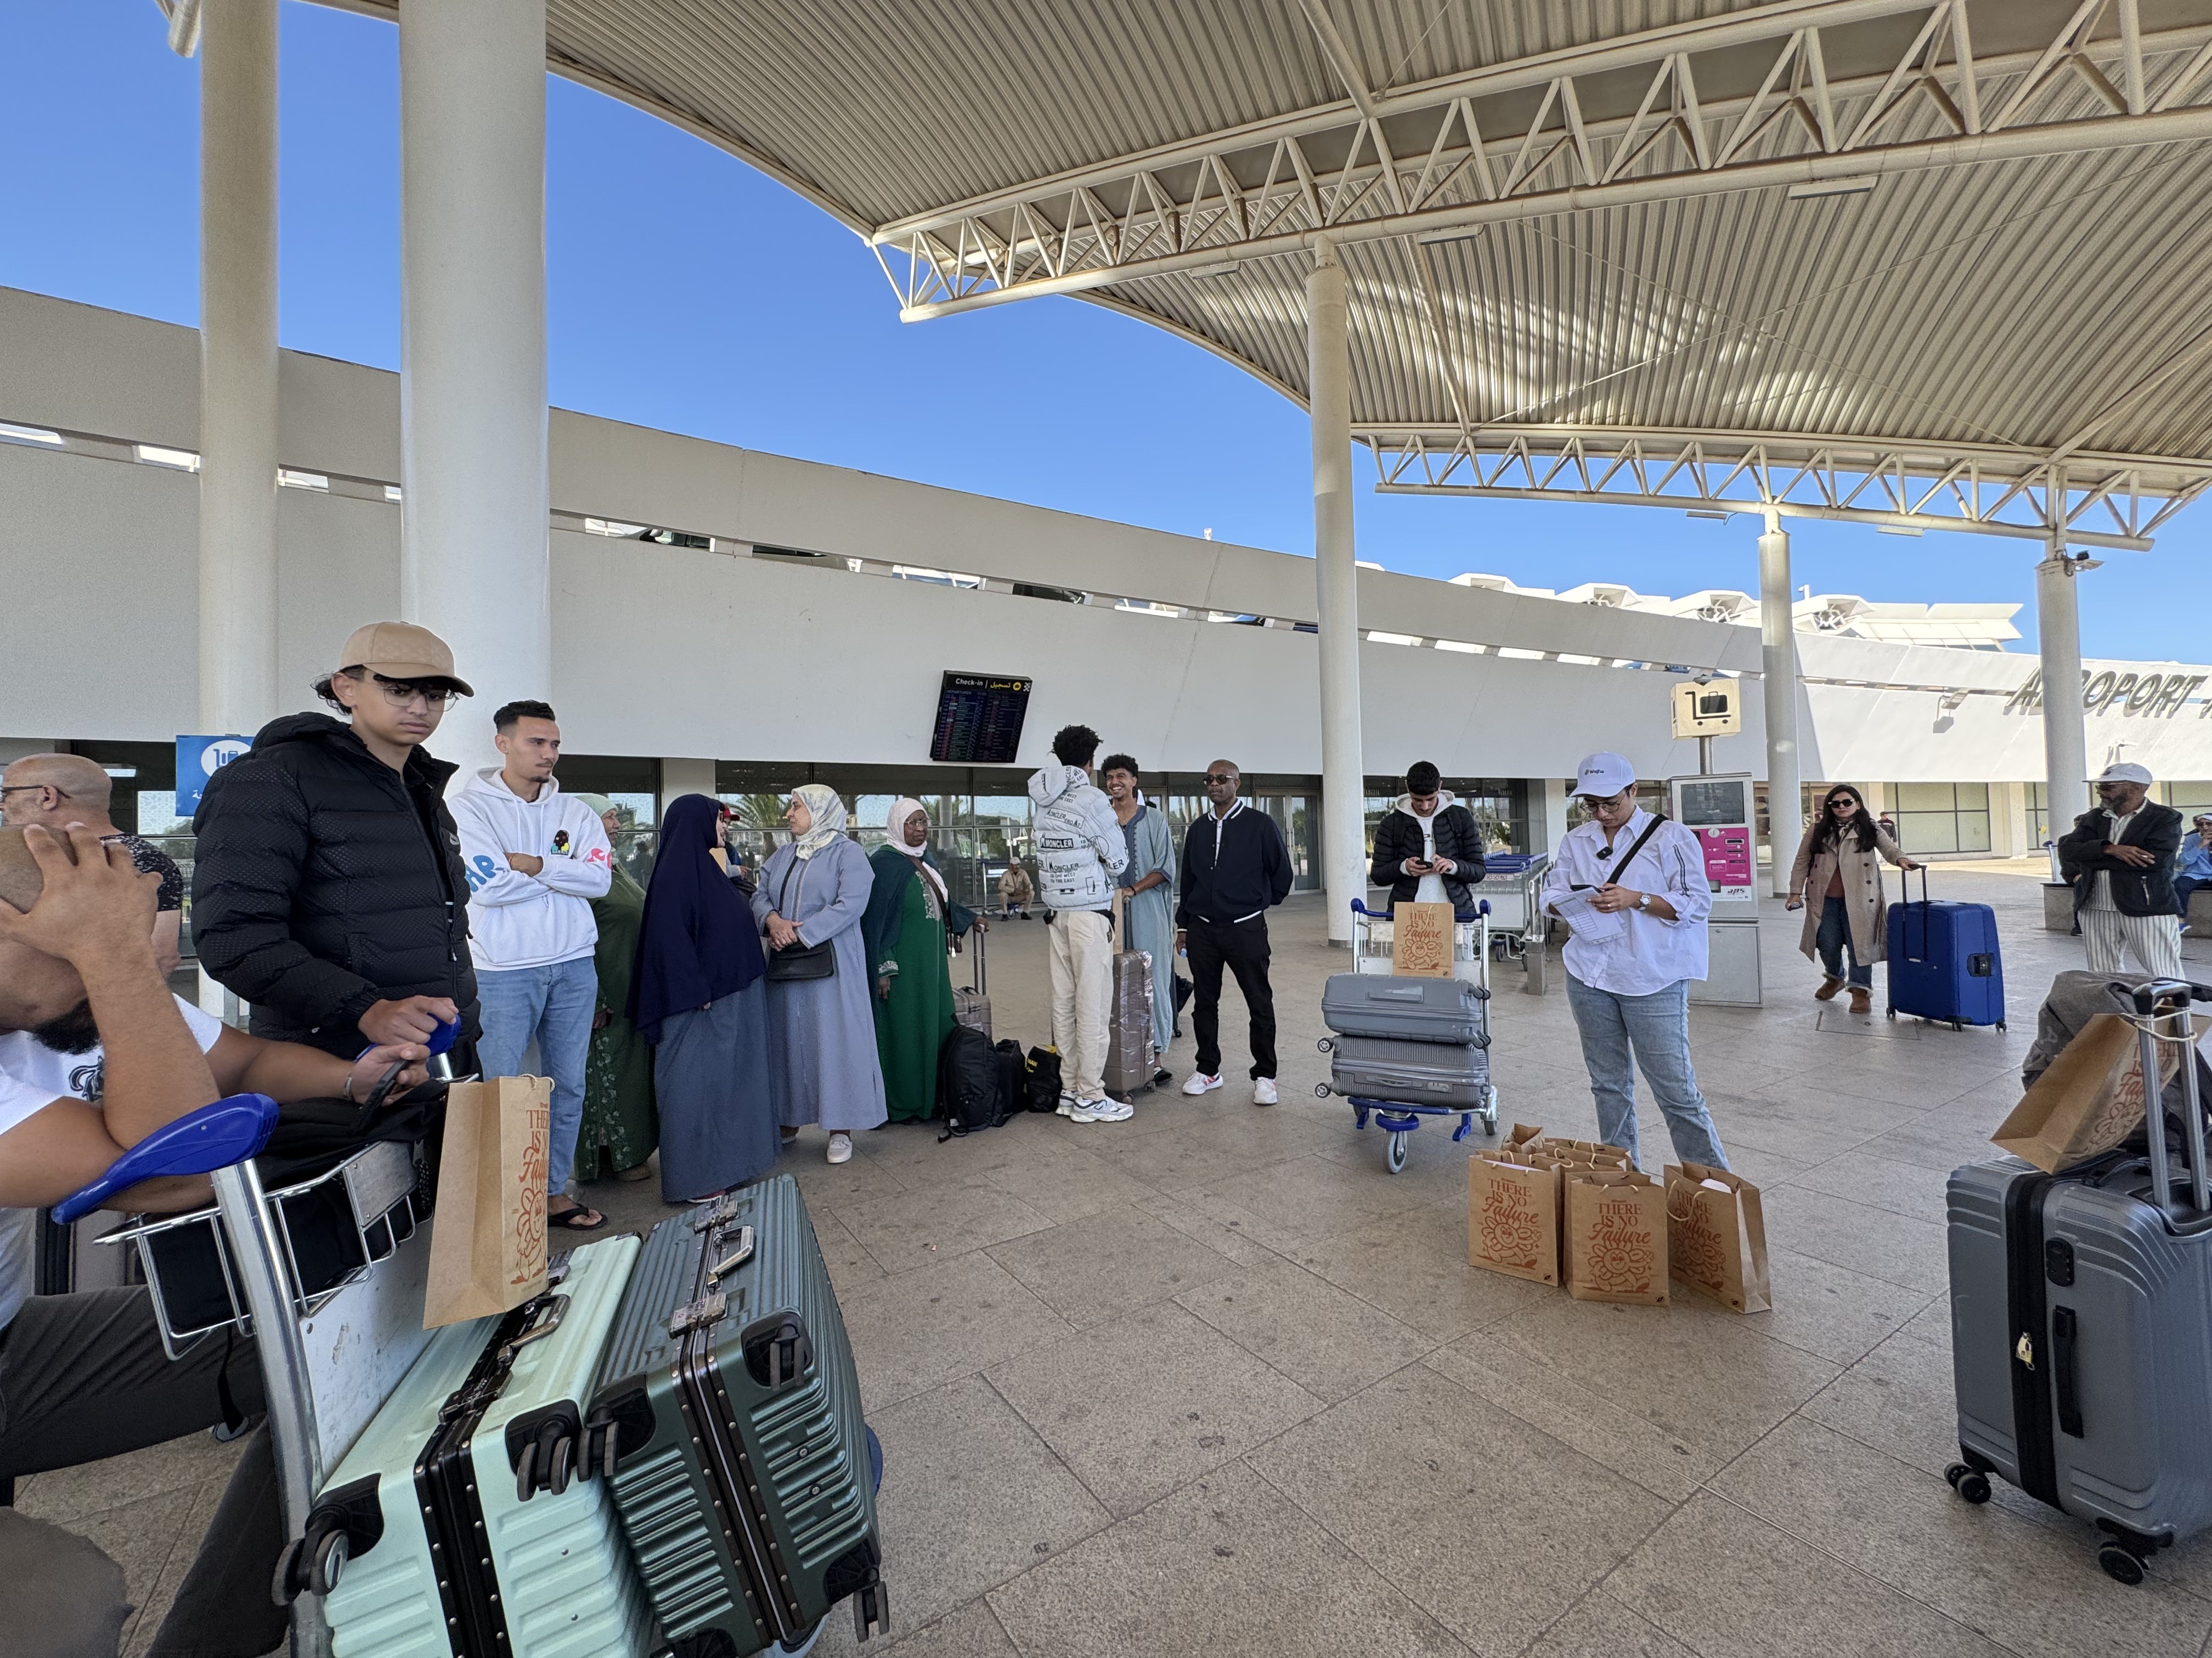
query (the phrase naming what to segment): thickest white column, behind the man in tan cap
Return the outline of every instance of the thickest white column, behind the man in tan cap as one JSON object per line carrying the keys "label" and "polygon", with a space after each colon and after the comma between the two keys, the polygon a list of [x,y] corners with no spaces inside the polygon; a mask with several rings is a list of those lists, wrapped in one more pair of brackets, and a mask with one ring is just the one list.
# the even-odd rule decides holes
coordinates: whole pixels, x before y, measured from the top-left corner
{"label": "thickest white column, behind the man in tan cap", "polygon": [[544,0],[407,0],[400,608],[476,685],[436,743],[462,780],[500,703],[553,692],[544,166]]}

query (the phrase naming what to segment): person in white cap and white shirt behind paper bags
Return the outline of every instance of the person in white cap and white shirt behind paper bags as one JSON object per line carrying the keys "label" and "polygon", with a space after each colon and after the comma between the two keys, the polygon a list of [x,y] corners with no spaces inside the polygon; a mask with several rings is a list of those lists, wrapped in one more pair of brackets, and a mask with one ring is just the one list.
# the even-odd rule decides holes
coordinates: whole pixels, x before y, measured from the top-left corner
{"label": "person in white cap and white shirt behind paper bags", "polygon": [[1728,1167],[1690,1066],[1690,979],[1705,977],[1712,886],[1697,836],[1637,805],[1637,769],[1593,754],[1573,791],[1590,822],[1568,829],[1544,875],[1542,904],[1575,928],[1566,1004],[1597,1099],[1597,1136],[1637,1161],[1637,1083],[1666,1114],[1683,1163]]}

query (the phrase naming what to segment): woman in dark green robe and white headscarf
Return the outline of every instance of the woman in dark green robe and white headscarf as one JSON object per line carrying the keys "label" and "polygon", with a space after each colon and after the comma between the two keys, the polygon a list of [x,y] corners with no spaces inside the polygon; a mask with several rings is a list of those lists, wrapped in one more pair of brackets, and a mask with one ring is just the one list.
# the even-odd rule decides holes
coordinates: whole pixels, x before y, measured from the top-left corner
{"label": "woman in dark green robe and white headscarf", "polygon": [[945,873],[929,858],[929,814],[920,800],[894,800],[889,844],[869,864],[876,889],[860,931],[876,984],[876,1057],[894,1123],[922,1123],[938,1110],[938,1050],[953,1028],[953,975],[947,940],[978,924],[951,902]]}

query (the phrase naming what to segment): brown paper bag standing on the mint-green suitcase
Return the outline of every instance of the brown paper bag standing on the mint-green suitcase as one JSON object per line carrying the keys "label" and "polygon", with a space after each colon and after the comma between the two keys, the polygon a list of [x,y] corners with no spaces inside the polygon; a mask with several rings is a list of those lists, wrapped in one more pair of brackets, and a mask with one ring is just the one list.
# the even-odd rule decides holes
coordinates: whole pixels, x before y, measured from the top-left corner
{"label": "brown paper bag standing on the mint-green suitcase", "polygon": [[429,1234],[422,1329],[520,1307],[546,1287],[553,1081],[453,1083]]}

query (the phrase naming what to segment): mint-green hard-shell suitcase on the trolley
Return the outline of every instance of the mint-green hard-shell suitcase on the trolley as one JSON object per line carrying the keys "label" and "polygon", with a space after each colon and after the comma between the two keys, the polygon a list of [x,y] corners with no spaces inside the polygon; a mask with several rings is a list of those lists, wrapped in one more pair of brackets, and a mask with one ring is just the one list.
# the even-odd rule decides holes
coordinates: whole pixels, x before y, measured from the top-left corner
{"label": "mint-green hard-shell suitcase on the trolley", "polygon": [[336,1658],[646,1658],[653,1607],[584,1413],[635,1236],[544,1295],[449,1324],[323,1483],[305,1528]]}

